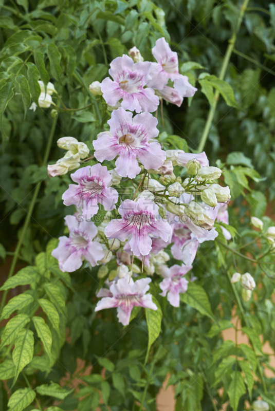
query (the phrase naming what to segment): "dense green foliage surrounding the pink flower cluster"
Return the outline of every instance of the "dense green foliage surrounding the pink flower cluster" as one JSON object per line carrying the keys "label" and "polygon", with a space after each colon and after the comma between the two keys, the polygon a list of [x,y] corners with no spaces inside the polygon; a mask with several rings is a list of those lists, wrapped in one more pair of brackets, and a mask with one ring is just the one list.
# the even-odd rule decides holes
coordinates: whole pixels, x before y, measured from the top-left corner
{"label": "dense green foliage surrounding the pink flower cluster", "polygon": [[[0,255],[4,263],[6,250],[14,251],[24,230],[19,256],[28,264],[2,290],[30,285],[2,307],[2,319],[19,313],[2,327],[0,379],[7,385],[0,383],[0,409],[56,411],[53,404],[59,401],[58,406],[68,411],[97,406],[137,410],[140,403],[141,409],[143,404],[154,410],[168,373],[169,384],[176,389],[177,410],[216,410],[230,400],[227,409],[241,411],[247,409],[245,401],[251,403],[258,396],[268,401],[270,409],[275,407],[275,379],[263,376],[264,364],[272,367],[259,339],[262,334],[263,341],[275,348],[274,266],[264,269],[236,254],[234,260],[223,246],[227,242],[219,227],[219,242],[207,242],[199,249],[193,270],[198,284],[191,285],[180,309],[161,299],[161,333],[146,364],[148,313],[136,313],[125,329],[110,310],[95,316],[97,270],[64,276],[50,256],[54,238],[64,232],[63,217],[74,213],[61,201],[69,176],[47,176],[47,163],[64,154],[56,141],[72,136],[92,149],[91,142],[106,127],[110,114],[102,100],[91,96],[88,85],[101,81],[109,63],[134,45],[144,60],[152,61],[151,48],[161,36],[177,51],[180,72],[198,91],[180,108],[164,104],[164,125],[158,113],[159,130],[167,134],[160,138],[169,142],[166,148],[196,151],[217,101],[214,92],[221,91],[205,150],[210,165],[218,160],[223,167],[234,200],[230,225],[237,235],[230,247],[255,239],[258,233],[249,228],[249,215],[263,217],[267,200],[272,207],[275,197],[275,5],[266,0],[244,3],[247,8],[238,30],[243,3],[237,1],[0,1]],[[217,80],[232,39],[224,80],[234,96],[226,83]],[[32,100],[37,103],[40,79],[54,83],[71,111],[58,109],[56,117],[51,109],[28,110]],[[89,103],[93,105],[88,109],[72,110]],[[267,228],[272,221],[264,217],[264,224]],[[261,241],[262,249],[254,242],[243,252],[258,260],[268,250]],[[272,260],[272,256],[265,259]],[[229,282],[229,273],[236,268],[249,271],[262,284],[252,303],[241,302],[240,289]],[[151,292],[157,297],[159,290],[151,287]],[[221,330],[232,327],[233,307],[250,347],[221,338]],[[151,321],[158,334],[159,320]],[[83,370],[76,373],[77,358],[87,367],[93,364],[93,372],[85,377]],[[66,375],[69,380],[61,387]],[[74,388],[80,388],[78,394],[69,389],[72,381]],[[9,405],[8,393],[13,393]]]}

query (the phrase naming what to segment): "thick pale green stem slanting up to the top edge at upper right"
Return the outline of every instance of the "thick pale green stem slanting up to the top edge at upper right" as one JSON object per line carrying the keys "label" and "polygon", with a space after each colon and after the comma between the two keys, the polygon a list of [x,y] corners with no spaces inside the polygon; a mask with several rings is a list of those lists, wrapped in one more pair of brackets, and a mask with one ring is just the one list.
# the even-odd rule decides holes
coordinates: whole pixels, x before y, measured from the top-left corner
{"label": "thick pale green stem slanting up to the top edge at upper right", "polygon": [[[248,3],[249,3],[249,0],[244,0],[243,5],[241,6],[241,10],[240,10],[240,14],[239,14],[239,19],[237,21],[236,29],[233,32],[233,34],[231,36],[231,39],[228,42],[228,47],[227,47],[227,50],[226,50],[226,53],[225,53],[225,58],[224,58],[224,62],[223,62],[223,65],[222,65],[222,69],[221,69],[221,72],[219,73],[219,79],[220,80],[224,80],[224,78],[225,78],[226,69],[227,69],[227,66],[229,64],[231,54],[232,54],[232,51],[234,49],[235,42],[236,42],[236,39],[237,39],[237,33],[240,30],[240,27],[241,27],[241,24],[242,24],[242,21],[243,21],[243,17],[244,17],[244,13],[245,13],[245,10],[247,8]],[[207,121],[206,121],[206,124],[205,124],[203,136],[201,136],[201,139],[200,139],[200,142],[199,142],[199,145],[198,145],[198,153],[200,153],[204,150],[204,146],[205,146],[205,143],[207,141],[208,134],[210,132],[210,127],[211,127],[211,124],[212,124],[212,120],[213,120],[213,117],[214,117],[214,114],[215,114],[215,110],[216,110],[216,106],[217,106],[217,102],[218,102],[218,97],[219,97],[218,90],[215,91],[214,97],[215,98],[214,98],[214,102],[213,102],[213,107],[210,107],[210,109],[209,109],[209,113],[208,113]]]}

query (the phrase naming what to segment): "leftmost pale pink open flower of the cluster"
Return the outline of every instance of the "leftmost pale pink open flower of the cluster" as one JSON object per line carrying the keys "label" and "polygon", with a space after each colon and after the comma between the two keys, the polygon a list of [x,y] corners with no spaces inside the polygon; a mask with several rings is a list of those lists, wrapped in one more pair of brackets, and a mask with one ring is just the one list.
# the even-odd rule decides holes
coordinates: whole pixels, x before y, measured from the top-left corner
{"label": "leftmost pale pink open flower of the cluster", "polygon": [[59,238],[59,245],[52,250],[51,255],[58,259],[61,271],[73,272],[82,266],[86,259],[92,267],[103,258],[102,245],[93,238],[97,235],[97,227],[94,222],[81,221],[73,215],[65,217],[69,229],[69,237]]}

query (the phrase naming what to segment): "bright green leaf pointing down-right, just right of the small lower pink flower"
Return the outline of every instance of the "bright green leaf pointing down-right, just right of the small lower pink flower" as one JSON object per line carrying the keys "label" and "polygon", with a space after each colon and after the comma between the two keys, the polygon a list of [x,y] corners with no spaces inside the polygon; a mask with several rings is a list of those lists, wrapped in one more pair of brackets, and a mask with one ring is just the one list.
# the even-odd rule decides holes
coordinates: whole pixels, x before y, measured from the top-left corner
{"label": "bright green leaf pointing down-right, just right of the small lower pink flower", "polygon": [[187,291],[180,295],[180,300],[216,322],[215,316],[211,310],[208,295],[203,287],[195,283],[189,283]]}

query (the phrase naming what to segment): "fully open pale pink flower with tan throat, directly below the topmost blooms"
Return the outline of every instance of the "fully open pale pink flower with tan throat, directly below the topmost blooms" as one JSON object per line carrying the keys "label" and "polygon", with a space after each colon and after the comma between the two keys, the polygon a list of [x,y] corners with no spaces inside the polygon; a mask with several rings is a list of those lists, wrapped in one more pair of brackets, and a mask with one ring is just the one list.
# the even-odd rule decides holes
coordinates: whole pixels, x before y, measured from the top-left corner
{"label": "fully open pale pink flower with tan throat, directly below the topmost blooms", "polygon": [[[116,172],[122,177],[135,178],[140,172],[137,158],[145,169],[158,169],[166,159],[160,144],[149,140],[158,136],[157,119],[150,113],[141,113],[133,118],[122,107],[114,110],[107,123],[110,132],[103,132],[94,141],[98,161],[116,160]],[[111,134],[111,135],[110,135]]]}

